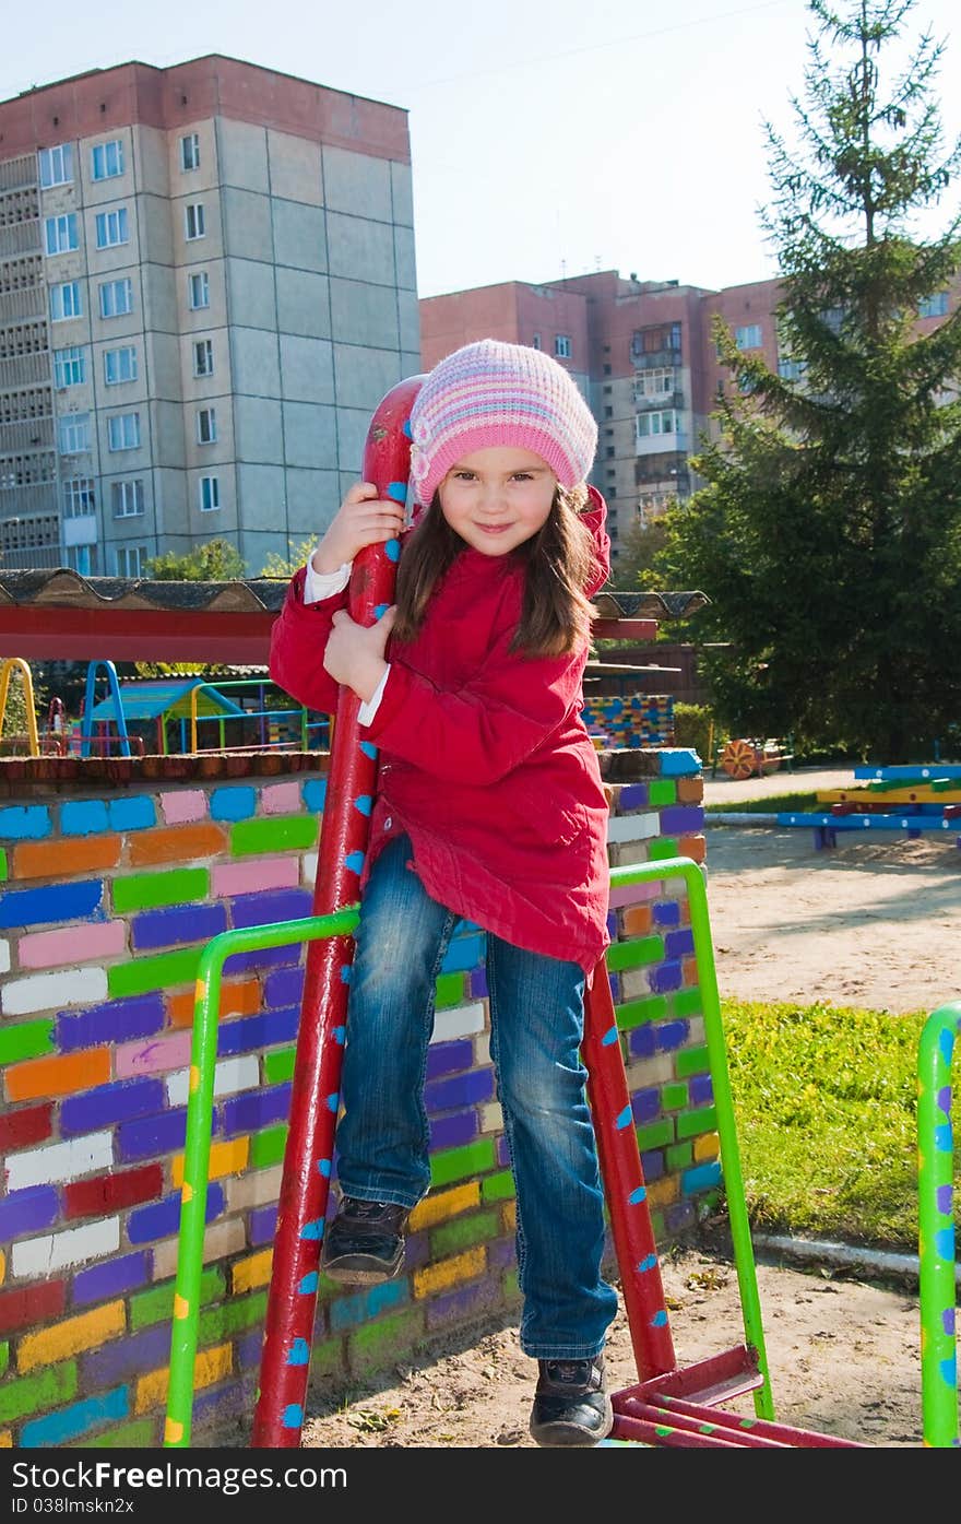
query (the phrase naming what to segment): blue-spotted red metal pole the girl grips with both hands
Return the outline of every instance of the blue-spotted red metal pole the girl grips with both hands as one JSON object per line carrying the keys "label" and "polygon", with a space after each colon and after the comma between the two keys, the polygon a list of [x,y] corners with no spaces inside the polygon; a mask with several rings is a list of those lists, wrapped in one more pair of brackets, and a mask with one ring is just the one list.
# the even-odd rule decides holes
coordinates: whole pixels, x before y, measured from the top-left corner
{"label": "blue-spotted red metal pole the girl grips with both hands", "polygon": [[[379,402],[367,430],[362,479],[373,482],[381,497],[396,501],[407,500],[408,419],[422,381],[423,376],[408,376],[397,383]],[[353,562],[347,611],[358,623],[375,623],[393,602],[399,552],[393,539],[370,546]],[[376,788],[376,748],[359,733],[358,709],[356,695],[341,687],[314,887],[315,916],[358,901]],[[299,1448],[303,1428],[352,959],[349,936],[324,937],[308,946],[253,1425],[253,1443],[271,1449]]]}

